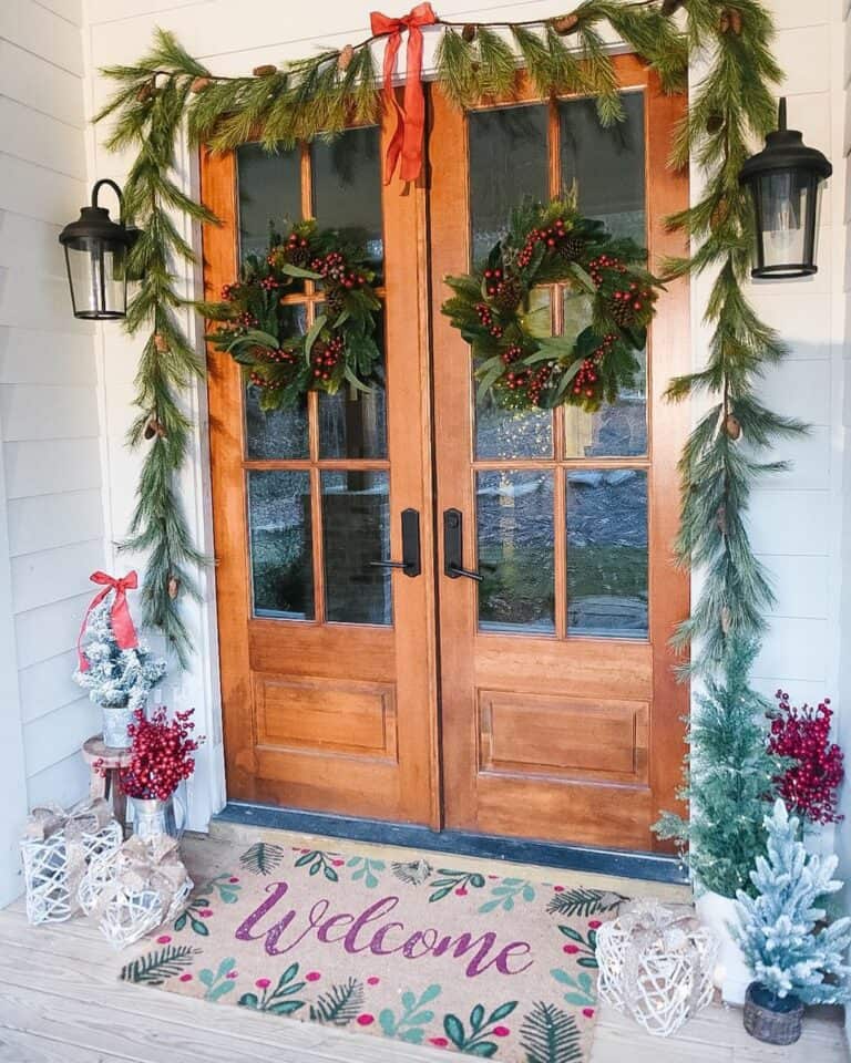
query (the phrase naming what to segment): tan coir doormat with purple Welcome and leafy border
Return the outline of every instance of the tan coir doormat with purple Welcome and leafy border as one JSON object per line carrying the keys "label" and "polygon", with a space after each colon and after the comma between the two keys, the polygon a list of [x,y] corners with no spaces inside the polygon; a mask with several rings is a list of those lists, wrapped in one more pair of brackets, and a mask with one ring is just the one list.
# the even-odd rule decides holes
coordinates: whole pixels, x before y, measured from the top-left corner
{"label": "tan coir doormat with purple Welcome and leafy border", "polygon": [[589,1055],[596,889],[256,843],[121,978],[516,1063]]}

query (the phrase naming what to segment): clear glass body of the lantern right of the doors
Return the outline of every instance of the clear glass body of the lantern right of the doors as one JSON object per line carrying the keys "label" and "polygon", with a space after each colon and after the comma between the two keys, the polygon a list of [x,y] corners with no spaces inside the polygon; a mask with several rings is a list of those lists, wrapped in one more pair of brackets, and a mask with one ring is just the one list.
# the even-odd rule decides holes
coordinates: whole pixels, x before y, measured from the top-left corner
{"label": "clear glass body of the lantern right of the doors", "polygon": [[820,184],[816,173],[799,168],[769,171],[753,180],[755,277],[807,277],[816,272]]}

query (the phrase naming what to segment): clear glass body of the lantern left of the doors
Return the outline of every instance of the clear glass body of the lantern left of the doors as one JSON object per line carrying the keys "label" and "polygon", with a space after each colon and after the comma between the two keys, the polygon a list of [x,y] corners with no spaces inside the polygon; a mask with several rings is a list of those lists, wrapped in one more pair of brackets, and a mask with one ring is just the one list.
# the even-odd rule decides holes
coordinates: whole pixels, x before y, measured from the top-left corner
{"label": "clear glass body of the lantern left of the doors", "polygon": [[68,280],[74,317],[123,318],[127,312],[126,246],[101,237],[65,244]]}

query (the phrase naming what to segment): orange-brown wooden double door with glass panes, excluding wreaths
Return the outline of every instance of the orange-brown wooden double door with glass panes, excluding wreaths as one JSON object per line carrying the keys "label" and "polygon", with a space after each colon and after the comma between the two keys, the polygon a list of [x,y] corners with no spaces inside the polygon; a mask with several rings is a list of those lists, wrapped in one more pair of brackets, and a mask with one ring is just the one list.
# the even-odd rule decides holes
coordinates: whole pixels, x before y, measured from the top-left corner
{"label": "orange-brown wooden double door with glass panes, excluding wreaths", "polygon": [[[665,166],[684,102],[632,58],[618,71],[615,130],[585,99],[521,87],[462,114],[432,87],[417,186],[382,185],[390,128],[203,157],[223,221],[204,233],[208,295],[269,221],[316,217],[366,244],[383,305],[369,394],[264,415],[209,354],[229,798],[656,847],[687,708],[668,649],[688,611],[670,558],[687,425],[662,400],[687,369],[687,293],[659,301],[646,379],[593,415],[476,407],[469,348],[440,313],[443,277],[490,249],[512,206],[574,182],[583,213],[652,259],[678,250],[663,218],[687,203]],[[536,297],[554,333],[572,327],[571,289]],[[309,281],[288,296],[294,329],[321,301]]]}

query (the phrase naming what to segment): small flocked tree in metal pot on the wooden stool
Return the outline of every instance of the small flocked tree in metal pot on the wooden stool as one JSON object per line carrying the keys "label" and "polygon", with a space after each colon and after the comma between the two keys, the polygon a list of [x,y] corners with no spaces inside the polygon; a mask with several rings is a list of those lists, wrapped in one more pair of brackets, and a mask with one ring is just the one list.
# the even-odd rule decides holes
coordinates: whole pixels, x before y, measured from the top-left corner
{"label": "small flocked tree in metal pot on the wooden stool", "polygon": [[130,745],[127,724],[136,709],[144,709],[147,693],[165,674],[165,661],[155,658],[146,646],[122,649],[112,625],[112,602],[99,602],[89,613],[83,630],[83,650],[74,681],[89,691],[89,698],[104,710],[103,739],[106,745]]}

